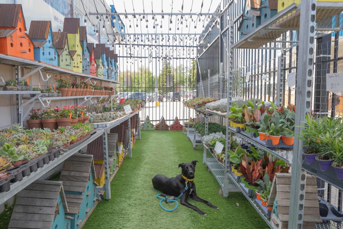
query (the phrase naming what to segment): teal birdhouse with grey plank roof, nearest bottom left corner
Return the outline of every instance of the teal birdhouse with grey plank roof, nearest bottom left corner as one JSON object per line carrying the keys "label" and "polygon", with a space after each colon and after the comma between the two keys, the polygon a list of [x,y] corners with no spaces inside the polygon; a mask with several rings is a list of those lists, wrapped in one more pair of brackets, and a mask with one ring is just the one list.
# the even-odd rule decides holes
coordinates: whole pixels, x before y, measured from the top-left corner
{"label": "teal birdhouse with grey plank roof, nearest bottom left corner", "polygon": [[37,180],[19,192],[9,228],[69,228],[67,198],[61,181]]}

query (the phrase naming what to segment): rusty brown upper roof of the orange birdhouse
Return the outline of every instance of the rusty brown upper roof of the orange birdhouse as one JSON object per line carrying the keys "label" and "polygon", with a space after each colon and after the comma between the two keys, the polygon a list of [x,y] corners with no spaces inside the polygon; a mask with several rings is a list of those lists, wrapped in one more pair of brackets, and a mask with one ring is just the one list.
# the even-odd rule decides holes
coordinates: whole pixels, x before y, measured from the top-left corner
{"label": "rusty brown upper roof of the orange birdhouse", "polygon": [[20,12],[26,30],[25,18],[21,4],[0,4],[0,27],[17,27]]}

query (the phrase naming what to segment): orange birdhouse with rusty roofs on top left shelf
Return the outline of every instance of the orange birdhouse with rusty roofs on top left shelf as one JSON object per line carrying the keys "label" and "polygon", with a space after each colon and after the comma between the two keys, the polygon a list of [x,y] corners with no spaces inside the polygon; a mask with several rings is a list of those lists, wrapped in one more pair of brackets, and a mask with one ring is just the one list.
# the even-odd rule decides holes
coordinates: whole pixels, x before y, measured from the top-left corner
{"label": "orange birdhouse with rusty roofs on top left shelf", "polygon": [[0,4],[0,53],[33,60],[34,46],[25,31],[22,5]]}

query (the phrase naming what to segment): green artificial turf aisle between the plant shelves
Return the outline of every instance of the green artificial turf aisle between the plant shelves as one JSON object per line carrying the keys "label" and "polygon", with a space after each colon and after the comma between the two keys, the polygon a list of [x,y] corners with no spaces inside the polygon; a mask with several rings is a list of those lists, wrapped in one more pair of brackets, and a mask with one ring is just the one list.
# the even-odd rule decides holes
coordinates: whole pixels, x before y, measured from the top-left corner
{"label": "green artificial turf aisle between the plant shelves", "polygon": [[[229,193],[228,198],[217,194],[220,186],[202,164],[202,153],[203,148],[194,150],[181,131],[142,131],[142,140],[135,142],[132,158],[124,160],[111,182],[112,198],[97,205],[83,228],[268,228],[243,194]],[[156,197],[159,192],[153,188],[151,179],[158,173],[176,176],[181,173],[178,164],[192,160],[199,161],[194,180],[197,194],[219,210],[190,198],[189,203],[207,216],[180,204],[171,213],[162,210]]]}

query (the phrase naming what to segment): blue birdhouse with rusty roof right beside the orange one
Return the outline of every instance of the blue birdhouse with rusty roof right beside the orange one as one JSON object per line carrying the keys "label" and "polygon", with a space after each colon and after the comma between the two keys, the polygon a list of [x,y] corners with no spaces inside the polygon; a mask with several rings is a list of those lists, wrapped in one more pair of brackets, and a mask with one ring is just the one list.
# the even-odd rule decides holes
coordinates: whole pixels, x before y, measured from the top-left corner
{"label": "blue birdhouse with rusty roof right beside the orange one", "polygon": [[58,66],[58,54],[53,45],[51,21],[31,21],[28,35],[34,45],[35,60]]}

